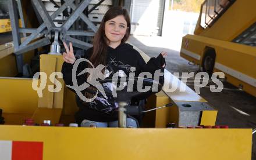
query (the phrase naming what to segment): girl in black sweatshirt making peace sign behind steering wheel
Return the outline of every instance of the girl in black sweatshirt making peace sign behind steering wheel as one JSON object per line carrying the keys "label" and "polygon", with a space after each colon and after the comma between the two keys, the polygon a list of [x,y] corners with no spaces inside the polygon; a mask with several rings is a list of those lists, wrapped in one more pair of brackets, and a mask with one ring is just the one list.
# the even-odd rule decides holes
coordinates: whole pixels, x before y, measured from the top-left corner
{"label": "girl in black sweatshirt making peace sign behind steering wheel", "polygon": [[[106,12],[102,19],[101,25],[95,34],[93,48],[84,53],[83,58],[90,60],[94,67],[103,64],[105,69],[102,71],[105,77],[111,78],[113,74],[129,75],[131,70],[135,68],[135,77],[141,72],[151,72],[154,75],[156,70],[165,67],[166,52],[161,52],[157,58],[151,58],[146,64],[140,53],[133,49],[133,46],[125,43],[130,36],[131,24],[129,13],[126,9],[120,7],[112,7]],[[63,53],[62,66],[63,79],[66,85],[73,85],[72,68],[77,60],[74,56],[72,43],[69,47],[63,42],[66,53]],[[86,61],[83,61],[77,67],[77,84],[82,85],[88,78],[87,73],[78,75],[85,68],[90,67]],[[111,74],[109,74],[111,73]],[[163,76],[160,77],[160,83],[163,83]],[[105,89],[111,90],[109,83],[103,85]],[[83,95],[88,97],[90,94],[86,90],[82,91]],[[97,126],[97,127],[117,127],[118,126],[118,105],[112,96],[99,96],[91,102],[85,102],[76,95],[79,111],[75,115],[76,122],[81,126]],[[127,127],[138,127],[136,121],[127,118]]]}

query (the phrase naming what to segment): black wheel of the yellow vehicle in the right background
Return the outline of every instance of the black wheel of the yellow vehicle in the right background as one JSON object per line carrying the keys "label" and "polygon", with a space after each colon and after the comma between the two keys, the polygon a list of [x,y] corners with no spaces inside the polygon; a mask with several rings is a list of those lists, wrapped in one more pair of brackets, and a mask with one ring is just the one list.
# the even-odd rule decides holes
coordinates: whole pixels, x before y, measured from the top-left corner
{"label": "black wheel of the yellow vehicle in the right background", "polygon": [[215,56],[213,50],[205,53],[204,58],[202,59],[202,71],[207,72],[209,75],[212,75],[214,72]]}

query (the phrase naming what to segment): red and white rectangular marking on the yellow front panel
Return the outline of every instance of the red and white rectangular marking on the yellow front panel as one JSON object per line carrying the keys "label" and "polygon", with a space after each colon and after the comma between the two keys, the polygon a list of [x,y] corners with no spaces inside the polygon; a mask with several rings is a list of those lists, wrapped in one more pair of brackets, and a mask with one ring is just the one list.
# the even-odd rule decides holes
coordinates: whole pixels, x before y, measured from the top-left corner
{"label": "red and white rectangular marking on the yellow front panel", "polygon": [[42,160],[43,143],[0,140],[1,160]]}

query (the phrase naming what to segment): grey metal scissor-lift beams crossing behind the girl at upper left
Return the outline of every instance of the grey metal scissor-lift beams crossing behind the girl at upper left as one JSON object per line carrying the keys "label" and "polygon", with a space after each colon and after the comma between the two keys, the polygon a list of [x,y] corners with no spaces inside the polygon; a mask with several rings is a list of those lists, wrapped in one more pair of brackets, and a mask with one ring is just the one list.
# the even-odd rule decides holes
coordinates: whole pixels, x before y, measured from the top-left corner
{"label": "grey metal scissor-lift beams crossing behind the girl at upper left", "polygon": [[[88,17],[83,14],[84,9],[88,7],[91,0],[83,0],[79,4],[77,4],[77,6],[73,3],[74,0],[65,0],[65,3],[59,6],[59,8],[51,16],[49,16],[41,0],[32,0],[34,8],[38,11],[38,15],[43,20],[43,23],[38,28],[19,28],[18,26],[19,21],[17,19],[17,10],[15,5],[15,0],[9,0],[9,1],[10,1],[10,5],[9,5],[10,19],[12,20],[15,54],[19,55],[29,50],[33,50],[45,45],[49,45],[51,43],[50,39],[53,37],[55,37],[55,39],[51,45],[51,51],[50,51],[51,54],[60,53],[61,46],[59,45],[59,42],[58,42],[59,39],[72,42],[73,46],[76,46],[77,48],[81,48],[81,49],[88,49],[92,46],[90,43],[86,43],[86,42],[80,41],[79,39],[70,37],[70,36],[94,36],[95,32],[98,30],[98,28],[95,27],[95,25],[88,19]],[[59,14],[61,14],[67,7],[72,8],[74,12],[69,16],[69,18],[61,27],[55,27],[54,19]],[[75,21],[79,17],[90,28],[92,28],[93,32],[69,30],[69,28],[75,23]],[[23,43],[20,44],[19,33],[24,33],[24,34],[30,33],[30,35],[23,41]],[[33,41],[35,38],[42,37],[42,36],[45,36],[45,38],[42,38],[38,41],[31,43],[31,41]]]}

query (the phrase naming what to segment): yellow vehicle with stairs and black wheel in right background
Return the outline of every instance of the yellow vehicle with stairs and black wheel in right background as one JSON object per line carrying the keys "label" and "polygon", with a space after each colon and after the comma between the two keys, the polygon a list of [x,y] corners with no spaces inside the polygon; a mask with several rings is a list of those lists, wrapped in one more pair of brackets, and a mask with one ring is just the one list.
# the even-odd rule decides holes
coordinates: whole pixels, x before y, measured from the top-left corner
{"label": "yellow vehicle with stairs and black wheel in right background", "polygon": [[207,0],[194,35],[183,37],[180,55],[256,96],[256,12],[254,0]]}

